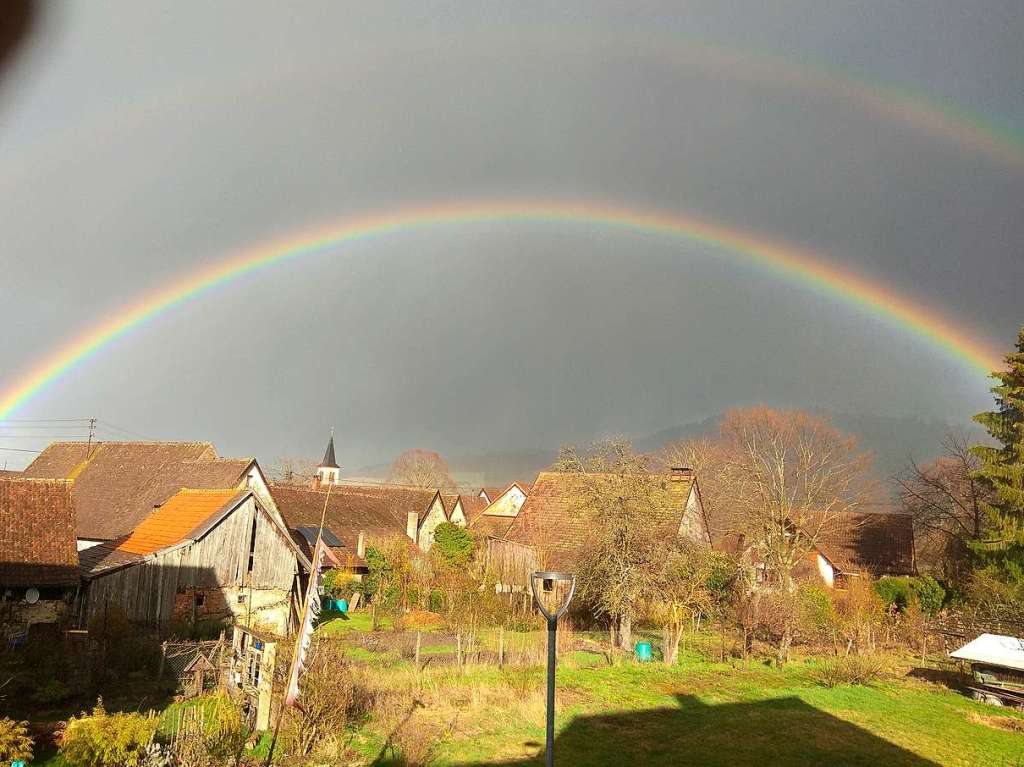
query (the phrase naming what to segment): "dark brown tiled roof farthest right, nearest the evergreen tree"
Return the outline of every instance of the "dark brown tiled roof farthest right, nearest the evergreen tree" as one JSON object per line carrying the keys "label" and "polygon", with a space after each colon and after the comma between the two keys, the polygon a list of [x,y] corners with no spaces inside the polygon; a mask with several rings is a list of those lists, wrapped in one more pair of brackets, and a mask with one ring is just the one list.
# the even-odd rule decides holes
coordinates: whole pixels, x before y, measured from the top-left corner
{"label": "dark brown tiled roof farthest right, nearest the evergreen tree", "polygon": [[914,572],[909,514],[845,512],[822,527],[818,550],[843,572],[910,576]]}

